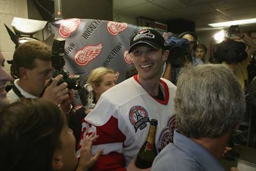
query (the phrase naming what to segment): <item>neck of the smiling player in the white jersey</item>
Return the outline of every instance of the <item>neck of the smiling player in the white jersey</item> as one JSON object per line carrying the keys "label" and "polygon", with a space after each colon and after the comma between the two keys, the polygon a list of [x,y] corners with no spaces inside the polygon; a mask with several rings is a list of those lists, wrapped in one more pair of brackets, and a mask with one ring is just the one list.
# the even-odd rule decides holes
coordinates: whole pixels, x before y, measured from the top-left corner
{"label": "neck of the smiling player in the white jersey", "polygon": [[146,92],[148,92],[148,94],[150,94],[152,96],[158,95],[160,77],[159,78],[155,77],[150,80],[145,80],[145,79],[141,78],[140,75],[138,75],[137,78],[138,78],[140,85],[146,90]]}

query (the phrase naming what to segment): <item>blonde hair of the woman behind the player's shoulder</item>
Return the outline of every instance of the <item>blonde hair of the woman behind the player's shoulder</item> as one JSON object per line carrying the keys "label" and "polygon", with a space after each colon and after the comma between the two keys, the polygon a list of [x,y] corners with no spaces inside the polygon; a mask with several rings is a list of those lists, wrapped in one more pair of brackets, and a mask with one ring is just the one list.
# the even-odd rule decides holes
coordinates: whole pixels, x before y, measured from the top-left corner
{"label": "blonde hair of the woman behind the player's shoulder", "polygon": [[111,68],[105,68],[105,67],[95,68],[90,72],[90,75],[87,78],[87,84],[99,86],[102,82],[102,76],[105,74],[115,74],[115,72]]}

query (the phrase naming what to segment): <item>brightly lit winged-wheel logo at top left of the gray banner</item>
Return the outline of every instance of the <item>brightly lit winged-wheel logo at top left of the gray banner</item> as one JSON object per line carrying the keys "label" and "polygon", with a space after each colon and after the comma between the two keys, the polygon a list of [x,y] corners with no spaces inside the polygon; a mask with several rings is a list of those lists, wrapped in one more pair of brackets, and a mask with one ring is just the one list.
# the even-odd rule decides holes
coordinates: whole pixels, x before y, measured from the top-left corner
{"label": "brightly lit winged-wheel logo at top left of the gray banner", "polygon": [[59,33],[62,37],[69,37],[81,23],[81,19],[67,19],[60,23]]}

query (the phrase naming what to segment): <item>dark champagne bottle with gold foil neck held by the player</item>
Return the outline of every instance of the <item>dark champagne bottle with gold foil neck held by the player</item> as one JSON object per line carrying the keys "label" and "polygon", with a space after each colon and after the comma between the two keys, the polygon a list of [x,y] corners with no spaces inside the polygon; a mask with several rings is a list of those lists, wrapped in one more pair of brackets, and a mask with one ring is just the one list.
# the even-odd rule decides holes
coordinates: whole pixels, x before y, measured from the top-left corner
{"label": "dark champagne bottle with gold foil neck held by the player", "polygon": [[151,167],[157,155],[155,144],[156,127],[157,120],[151,119],[147,140],[142,145],[135,161],[135,166],[138,168],[145,169]]}

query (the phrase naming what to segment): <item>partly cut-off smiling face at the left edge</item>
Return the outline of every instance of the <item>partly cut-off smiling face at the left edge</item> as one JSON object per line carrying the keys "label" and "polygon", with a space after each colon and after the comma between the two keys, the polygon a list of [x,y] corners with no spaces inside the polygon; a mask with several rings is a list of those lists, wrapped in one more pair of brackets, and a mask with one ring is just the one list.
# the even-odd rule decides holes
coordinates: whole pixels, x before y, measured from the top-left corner
{"label": "partly cut-off smiling face at the left edge", "polygon": [[0,108],[9,103],[9,100],[6,97],[6,82],[11,81],[10,75],[4,69],[4,57],[0,51]]}

